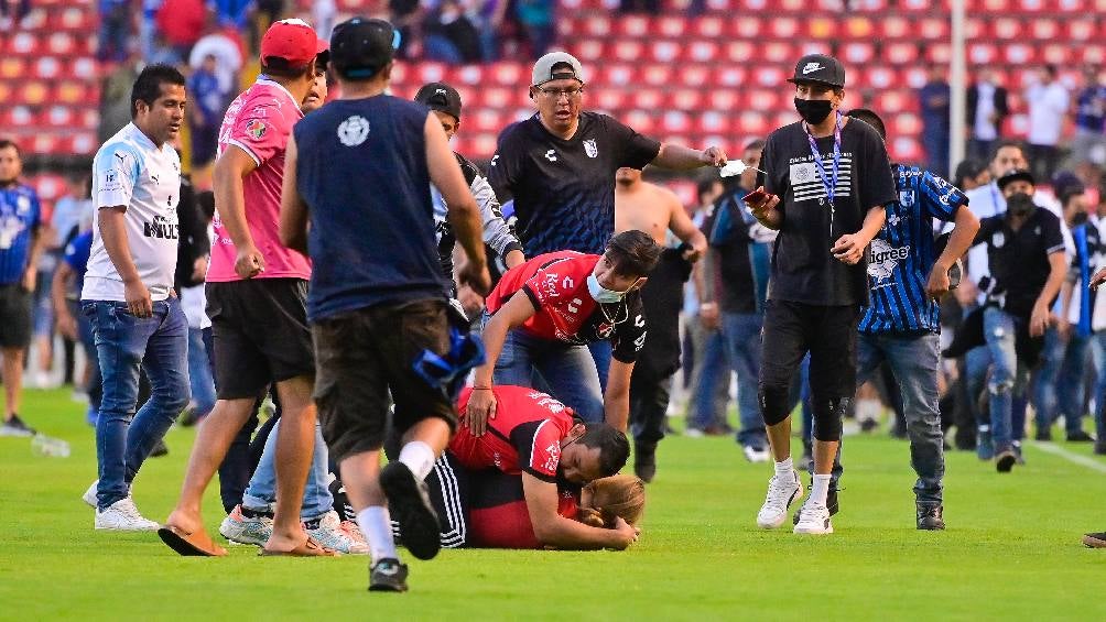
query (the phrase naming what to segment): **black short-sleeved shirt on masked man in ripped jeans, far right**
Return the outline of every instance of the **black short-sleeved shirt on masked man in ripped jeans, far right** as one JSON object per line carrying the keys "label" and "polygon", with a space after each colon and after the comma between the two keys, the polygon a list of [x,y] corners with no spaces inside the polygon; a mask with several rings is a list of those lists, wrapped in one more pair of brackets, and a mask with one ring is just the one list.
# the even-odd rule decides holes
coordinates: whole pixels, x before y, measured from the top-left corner
{"label": "black short-sleeved shirt on masked man in ripped jeans, far right", "polygon": [[983,277],[980,287],[1006,313],[1029,319],[1052,272],[1048,255],[1064,252],[1060,219],[1037,208],[1015,232],[1005,213],[984,218],[974,243],[987,243],[991,266],[990,276]]}

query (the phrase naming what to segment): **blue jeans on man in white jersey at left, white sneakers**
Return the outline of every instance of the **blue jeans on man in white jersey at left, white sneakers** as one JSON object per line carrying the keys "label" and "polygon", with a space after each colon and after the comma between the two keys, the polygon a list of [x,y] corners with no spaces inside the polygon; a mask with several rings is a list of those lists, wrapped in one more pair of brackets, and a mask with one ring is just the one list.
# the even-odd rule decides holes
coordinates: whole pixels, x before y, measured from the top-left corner
{"label": "blue jeans on man in white jersey at left, white sneakers", "polygon": [[[104,394],[96,422],[100,486],[97,506],[126,498],[143,462],[188,405],[188,320],[180,302],[154,303],[154,314],[138,318],[126,303],[87,301]],[[135,414],[139,366],[150,382],[150,397]]]}

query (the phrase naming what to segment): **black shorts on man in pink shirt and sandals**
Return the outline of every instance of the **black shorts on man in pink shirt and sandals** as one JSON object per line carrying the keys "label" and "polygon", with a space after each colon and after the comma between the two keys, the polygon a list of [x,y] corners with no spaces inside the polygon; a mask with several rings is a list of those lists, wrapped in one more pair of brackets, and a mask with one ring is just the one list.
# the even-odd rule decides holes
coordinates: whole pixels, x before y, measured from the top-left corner
{"label": "black shorts on man in pink shirt and sandals", "polygon": [[220,400],[259,398],[273,382],[315,373],[306,281],[208,283],[206,292]]}

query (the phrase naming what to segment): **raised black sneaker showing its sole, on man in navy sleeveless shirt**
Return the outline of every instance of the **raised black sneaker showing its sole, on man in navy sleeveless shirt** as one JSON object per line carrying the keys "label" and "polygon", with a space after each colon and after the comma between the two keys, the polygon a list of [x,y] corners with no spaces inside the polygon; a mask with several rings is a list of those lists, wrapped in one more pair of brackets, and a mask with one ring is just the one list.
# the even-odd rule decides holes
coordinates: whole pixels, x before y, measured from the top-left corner
{"label": "raised black sneaker showing its sole, on man in navy sleeveless shirt", "polygon": [[395,461],[380,471],[380,487],[388,497],[388,512],[399,524],[404,546],[418,559],[434,559],[441,549],[441,527],[426,483],[415,477],[406,464]]}

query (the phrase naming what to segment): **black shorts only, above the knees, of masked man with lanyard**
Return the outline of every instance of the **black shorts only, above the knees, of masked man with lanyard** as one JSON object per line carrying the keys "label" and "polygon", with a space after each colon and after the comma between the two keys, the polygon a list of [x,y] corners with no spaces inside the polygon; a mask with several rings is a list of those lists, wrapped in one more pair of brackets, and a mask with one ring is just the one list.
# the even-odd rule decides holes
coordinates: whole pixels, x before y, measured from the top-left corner
{"label": "black shorts only, above the knees, of masked man with lanyard", "polygon": [[[769,301],[761,339],[761,387],[791,387],[811,354],[815,404],[856,392],[856,330],[860,308]],[[817,410],[817,409],[816,409]]]}

